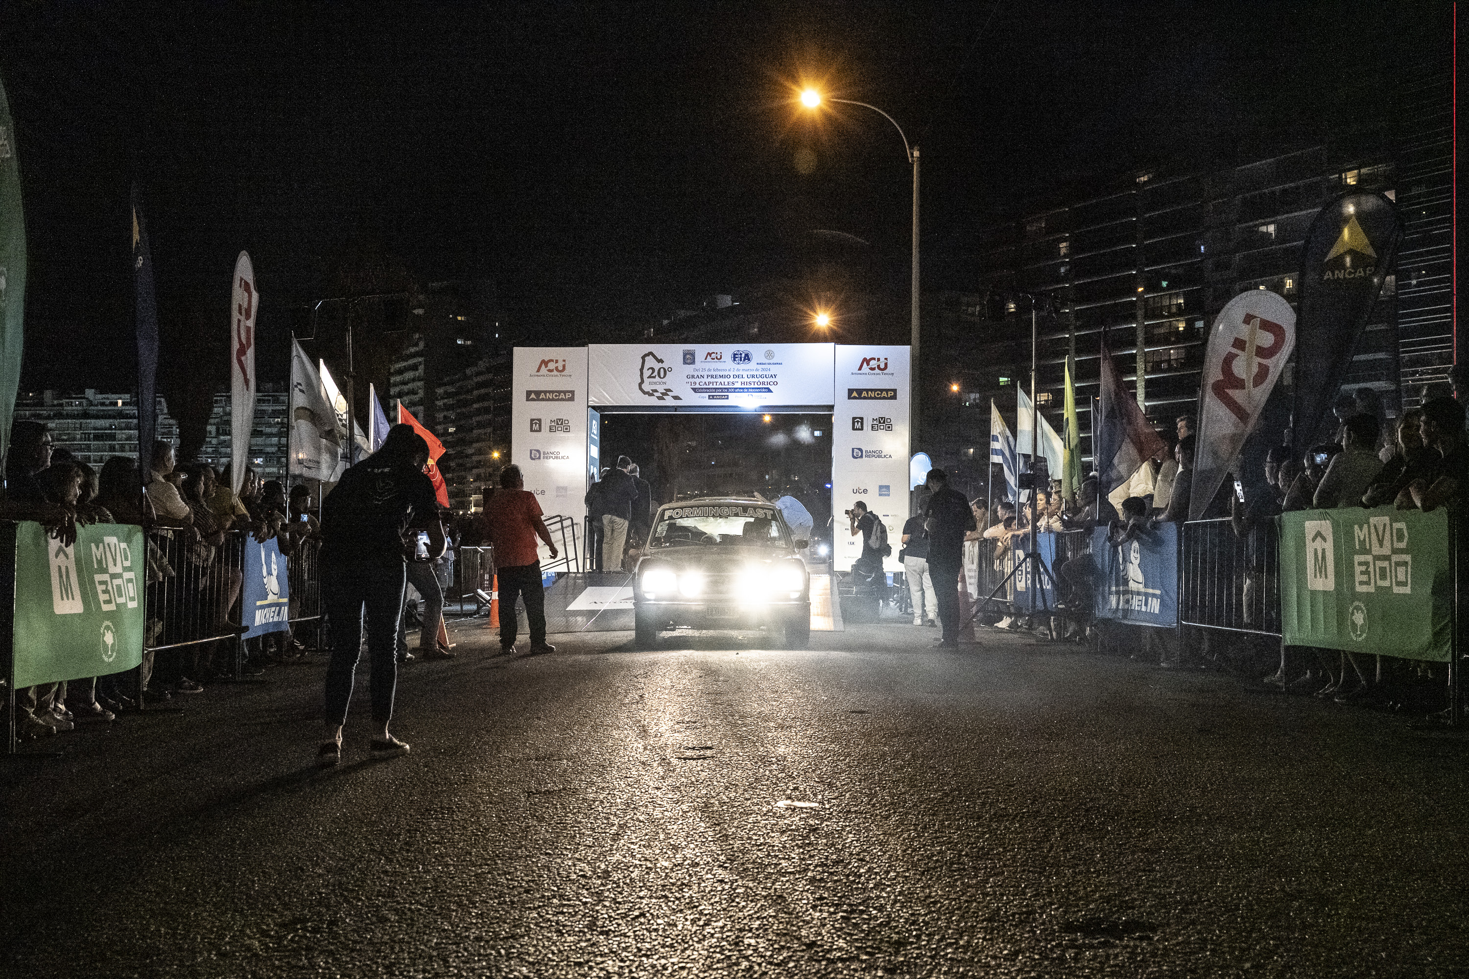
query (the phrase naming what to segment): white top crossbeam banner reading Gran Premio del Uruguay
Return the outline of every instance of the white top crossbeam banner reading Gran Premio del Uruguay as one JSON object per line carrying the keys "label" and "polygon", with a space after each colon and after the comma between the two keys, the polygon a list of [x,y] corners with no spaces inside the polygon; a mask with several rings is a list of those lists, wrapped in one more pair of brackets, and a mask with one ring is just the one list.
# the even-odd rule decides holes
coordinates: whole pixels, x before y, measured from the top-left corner
{"label": "white top crossbeam banner reading Gran Premio del Uruguay", "polygon": [[591,364],[588,402],[646,411],[826,407],[831,404],[831,348],[593,343],[583,351]]}

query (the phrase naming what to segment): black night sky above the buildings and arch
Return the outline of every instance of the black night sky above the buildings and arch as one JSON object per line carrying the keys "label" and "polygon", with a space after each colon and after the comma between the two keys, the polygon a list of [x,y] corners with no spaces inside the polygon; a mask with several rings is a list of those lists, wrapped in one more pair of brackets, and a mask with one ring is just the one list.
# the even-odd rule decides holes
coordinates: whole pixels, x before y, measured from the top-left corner
{"label": "black night sky above the buildings and arch", "polygon": [[1381,112],[1390,66],[1447,50],[1447,12],[10,3],[0,78],[26,188],[22,389],[132,386],[132,181],[165,377],[219,360],[222,387],[241,248],[264,296],[267,379],[284,376],[291,308],[361,267],[420,285],[492,277],[542,342],[789,272],[812,229],[890,254],[877,288],[905,295],[902,144],[865,110],[802,116],[802,81],[905,126],[923,148],[925,248],[943,251],[1080,175],[1228,164],[1319,139],[1346,104]]}

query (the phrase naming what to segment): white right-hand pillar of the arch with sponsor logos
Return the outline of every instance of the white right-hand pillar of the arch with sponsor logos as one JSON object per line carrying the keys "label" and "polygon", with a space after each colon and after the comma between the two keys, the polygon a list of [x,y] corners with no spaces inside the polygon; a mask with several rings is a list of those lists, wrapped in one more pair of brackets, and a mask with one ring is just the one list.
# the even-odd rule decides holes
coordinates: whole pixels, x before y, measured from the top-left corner
{"label": "white right-hand pillar of the arch with sponsor logos", "polygon": [[862,556],[845,511],[862,501],[887,527],[893,553],[883,569],[902,571],[908,521],[908,348],[837,346],[831,408],[831,567],[849,571]]}

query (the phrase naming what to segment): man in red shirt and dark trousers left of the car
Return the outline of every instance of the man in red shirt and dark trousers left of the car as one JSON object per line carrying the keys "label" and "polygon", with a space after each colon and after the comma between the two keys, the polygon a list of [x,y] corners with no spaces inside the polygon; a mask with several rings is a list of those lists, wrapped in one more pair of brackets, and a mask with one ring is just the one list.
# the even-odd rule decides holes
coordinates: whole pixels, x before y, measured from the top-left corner
{"label": "man in red shirt and dark trousers left of the car", "polygon": [[507,465],[499,471],[499,492],[486,506],[485,517],[489,543],[495,547],[495,575],[499,581],[499,653],[516,652],[516,599],[526,603],[526,619],[530,622],[530,655],[554,653],[555,646],[546,644],[546,603],[541,586],[541,555],[536,537],[557,556],[551,543],[551,531],[541,520],[541,503],[536,495],[526,492],[526,481],[519,465]]}

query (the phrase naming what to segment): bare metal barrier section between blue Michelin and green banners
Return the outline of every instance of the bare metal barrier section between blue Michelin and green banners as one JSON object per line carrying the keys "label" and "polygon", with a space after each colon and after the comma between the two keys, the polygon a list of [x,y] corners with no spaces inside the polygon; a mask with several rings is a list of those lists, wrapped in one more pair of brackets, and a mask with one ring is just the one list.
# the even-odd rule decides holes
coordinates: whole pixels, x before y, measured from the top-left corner
{"label": "bare metal barrier section between blue Michelin and green banners", "polygon": [[1184,625],[1281,634],[1279,521],[1263,520],[1244,537],[1228,520],[1183,525],[1178,621]]}

